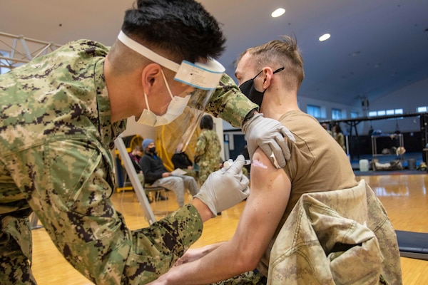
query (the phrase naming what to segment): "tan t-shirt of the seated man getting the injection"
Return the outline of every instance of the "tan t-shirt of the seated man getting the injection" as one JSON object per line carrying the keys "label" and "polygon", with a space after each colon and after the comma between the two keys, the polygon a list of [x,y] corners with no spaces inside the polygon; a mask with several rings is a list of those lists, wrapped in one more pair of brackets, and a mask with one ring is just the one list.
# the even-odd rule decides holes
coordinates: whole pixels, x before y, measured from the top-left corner
{"label": "tan t-shirt of the seated man getting the injection", "polygon": [[315,118],[295,110],[282,115],[279,121],[291,131],[296,142],[288,142],[291,158],[284,167],[291,181],[290,199],[270,247],[258,265],[265,276],[273,242],[303,193],[340,190],[358,184],[346,153]]}

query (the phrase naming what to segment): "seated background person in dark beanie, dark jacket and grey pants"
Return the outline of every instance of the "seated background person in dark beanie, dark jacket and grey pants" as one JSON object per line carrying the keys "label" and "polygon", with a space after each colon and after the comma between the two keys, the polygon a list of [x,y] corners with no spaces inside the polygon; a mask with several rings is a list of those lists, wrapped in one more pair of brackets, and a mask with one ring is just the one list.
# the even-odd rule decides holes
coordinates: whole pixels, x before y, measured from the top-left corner
{"label": "seated background person in dark beanie, dark jacket and grey pants", "polygon": [[199,192],[195,178],[187,175],[171,175],[166,170],[161,157],[156,154],[155,142],[146,138],[143,140],[144,155],[140,160],[140,167],[143,170],[146,183],[152,186],[162,186],[175,193],[175,199],[179,207],[184,205],[184,191],[188,189],[190,194],[195,196]]}

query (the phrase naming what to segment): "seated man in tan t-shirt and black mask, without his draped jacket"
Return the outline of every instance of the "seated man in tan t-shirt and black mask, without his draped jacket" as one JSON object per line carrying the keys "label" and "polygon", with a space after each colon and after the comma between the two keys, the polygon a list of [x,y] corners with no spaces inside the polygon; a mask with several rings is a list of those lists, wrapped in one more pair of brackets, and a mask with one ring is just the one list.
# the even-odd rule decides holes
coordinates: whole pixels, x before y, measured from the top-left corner
{"label": "seated man in tan t-shirt and black mask, without his draped jacket", "polygon": [[[257,164],[251,167],[250,196],[234,236],[227,242],[189,249],[178,260],[177,266],[151,284],[210,284],[219,281],[220,284],[266,284],[270,249],[297,200],[304,193],[345,191],[358,185],[342,147],[315,118],[298,107],[297,92],[304,71],[303,60],[293,38],[284,37],[282,41],[249,48],[238,58],[235,75],[242,92],[260,105],[260,113],[278,120],[294,135],[295,142],[287,142],[291,158],[285,167],[277,169],[258,148],[251,158],[266,167]],[[387,222],[385,220],[384,224]],[[379,260],[383,259],[381,255]],[[317,264],[317,259],[327,257],[322,252],[311,258]],[[352,260],[349,262],[347,272],[352,276]],[[389,266],[388,262],[385,258],[384,264]],[[367,264],[370,267],[366,269],[373,270],[372,264]],[[298,268],[293,269],[300,281],[305,279],[305,274],[310,275],[305,271],[299,272]]]}

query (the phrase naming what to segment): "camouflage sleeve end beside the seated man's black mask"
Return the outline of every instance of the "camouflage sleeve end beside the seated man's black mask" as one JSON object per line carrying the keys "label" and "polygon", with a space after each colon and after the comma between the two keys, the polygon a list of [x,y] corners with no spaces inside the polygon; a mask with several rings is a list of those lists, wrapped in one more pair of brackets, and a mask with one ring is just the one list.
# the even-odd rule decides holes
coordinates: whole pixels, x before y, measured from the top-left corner
{"label": "camouflage sleeve end beside the seated man's black mask", "polygon": [[233,79],[223,73],[205,111],[216,118],[222,118],[235,128],[241,128],[245,117],[255,109],[258,110],[258,105],[245,97]]}

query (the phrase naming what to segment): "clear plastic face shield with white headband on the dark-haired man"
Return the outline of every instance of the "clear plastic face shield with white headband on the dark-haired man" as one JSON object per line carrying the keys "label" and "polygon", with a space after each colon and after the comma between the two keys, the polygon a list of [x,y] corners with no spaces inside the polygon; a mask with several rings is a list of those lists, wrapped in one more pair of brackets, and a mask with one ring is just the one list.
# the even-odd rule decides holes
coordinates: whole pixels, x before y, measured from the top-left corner
{"label": "clear plastic face shield with white headband on the dark-haired man", "polygon": [[[172,153],[180,144],[183,145],[181,151],[184,151],[199,124],[210,96],[225,72],[225,68],[218,61],[211,58],[208,58],[204,63],[190,63],[188,61],[183,61],[181,64],[175,63],[129,38],[123,31],[119,33],[118,40],[128,48],[136,51],[136,53],[141,54],[141,56],[168,68],[170,71],[174,71],[174,80],[189,86],[183,92],[184,94],[178,95],[179,97],[190,95],[190,99],[183,113],[171,123],[171,125],[175,125],[175,131],[173,132],[175,136],[163,142],[168,144],[165,145],[165,148]],[[163,126],[158,128],[163,128]]]}

